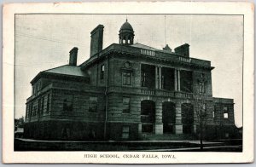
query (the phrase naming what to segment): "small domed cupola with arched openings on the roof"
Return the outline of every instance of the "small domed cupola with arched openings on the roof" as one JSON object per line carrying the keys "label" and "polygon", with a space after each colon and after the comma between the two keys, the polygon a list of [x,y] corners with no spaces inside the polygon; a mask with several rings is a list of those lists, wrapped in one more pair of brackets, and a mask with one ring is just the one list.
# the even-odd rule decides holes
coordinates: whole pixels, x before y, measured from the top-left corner
{"label": "small domed cupola with arched openings on the roof", "polygon": [[134,31],[131,24],[127,21],[119,30],[119,44],[133,44]]}

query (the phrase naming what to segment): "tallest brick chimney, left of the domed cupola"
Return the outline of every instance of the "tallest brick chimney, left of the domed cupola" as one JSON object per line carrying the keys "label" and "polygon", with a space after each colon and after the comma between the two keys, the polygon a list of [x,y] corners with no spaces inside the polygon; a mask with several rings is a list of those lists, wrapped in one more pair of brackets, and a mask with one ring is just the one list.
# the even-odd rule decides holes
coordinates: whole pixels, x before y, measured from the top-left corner
{"label": "tallest brick chimney, left of the domed cupola", "polygon": [[102,51],[103,28],[103,25],[99,25],[90,32],[90,57]]}

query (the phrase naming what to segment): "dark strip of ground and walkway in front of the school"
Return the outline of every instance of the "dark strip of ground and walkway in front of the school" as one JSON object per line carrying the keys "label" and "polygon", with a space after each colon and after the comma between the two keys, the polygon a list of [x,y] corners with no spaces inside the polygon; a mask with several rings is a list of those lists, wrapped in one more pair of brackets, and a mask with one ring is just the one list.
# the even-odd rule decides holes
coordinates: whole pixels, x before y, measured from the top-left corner
{"label": "dark strip of ground and walkway in front of the school", "polygon": [[[241,140],[205,141],[204,152],[241,152]],[[200,152],[198,141],[36,141],[15,139],[15,151]]]}

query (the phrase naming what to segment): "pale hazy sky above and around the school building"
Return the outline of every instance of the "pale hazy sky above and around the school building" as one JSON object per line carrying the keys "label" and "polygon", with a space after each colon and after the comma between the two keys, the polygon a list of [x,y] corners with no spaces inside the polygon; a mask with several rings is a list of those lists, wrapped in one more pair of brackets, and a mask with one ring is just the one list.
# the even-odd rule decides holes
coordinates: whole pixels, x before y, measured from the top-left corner
{"label": "pale hazy sky above and around the school building", "polygon": [[[126,18],[135,43],[162,49],[189,43],[190,57],[211,60],[212,94],[233,98],[236,126],[242,126],[243,18],[204,14],[16,14],[15,118],[25,116],[30,81],[38,72],[68,64],[79,48],[78,65],[90,56],[90,32],[104,27],[103,49],[119,43]],[[165,19],[166,18],[166,19]]]}

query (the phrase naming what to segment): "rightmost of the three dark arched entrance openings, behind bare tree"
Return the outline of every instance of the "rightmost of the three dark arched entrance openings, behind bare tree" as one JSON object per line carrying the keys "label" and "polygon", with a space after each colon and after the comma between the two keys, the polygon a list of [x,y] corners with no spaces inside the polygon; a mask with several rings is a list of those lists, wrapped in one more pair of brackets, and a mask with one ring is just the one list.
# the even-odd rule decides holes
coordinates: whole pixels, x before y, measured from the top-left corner
{"label": "rightmost of the three dark arched entrance openings, behind bare tree", "polygon": [[194,124],[194,107],[190,103],[183,103],[182,110],[182,124],[183,134],[191,134],[193,132]]}

